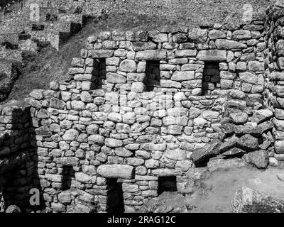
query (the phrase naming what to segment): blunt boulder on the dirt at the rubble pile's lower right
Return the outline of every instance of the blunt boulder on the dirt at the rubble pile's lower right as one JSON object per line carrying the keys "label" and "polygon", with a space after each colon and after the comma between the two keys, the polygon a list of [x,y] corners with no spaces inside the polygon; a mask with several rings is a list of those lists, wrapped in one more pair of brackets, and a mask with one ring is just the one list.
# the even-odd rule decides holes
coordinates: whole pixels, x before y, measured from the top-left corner
{"label": "blunt boulder on the dirt at the rubble pile's lower right", "polygon": [[266,150],[256,150],[251,153],[245,154],[243,160],[251,163],[258,169],[265,169],[269,164],[269,155]]}

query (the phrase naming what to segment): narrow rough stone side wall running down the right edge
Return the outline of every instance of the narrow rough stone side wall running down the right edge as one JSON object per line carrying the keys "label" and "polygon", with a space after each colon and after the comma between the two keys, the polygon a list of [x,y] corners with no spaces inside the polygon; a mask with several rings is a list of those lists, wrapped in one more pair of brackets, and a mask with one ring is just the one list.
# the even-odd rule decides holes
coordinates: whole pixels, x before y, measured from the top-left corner
{"label": "narrow rough stone side wall running down the right edge", "polygon": [[275,138],[275,158],[284,160],[284,5],[275,1],[267,10],[266,19],[266,105],[273,109],[273,137]]}

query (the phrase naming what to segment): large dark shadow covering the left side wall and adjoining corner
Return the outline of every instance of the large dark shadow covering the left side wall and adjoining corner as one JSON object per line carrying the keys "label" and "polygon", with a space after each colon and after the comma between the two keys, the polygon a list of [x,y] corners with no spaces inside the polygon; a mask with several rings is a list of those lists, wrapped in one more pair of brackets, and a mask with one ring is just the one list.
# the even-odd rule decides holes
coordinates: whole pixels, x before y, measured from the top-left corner
{"label": "large dark shadow covering the left side wall and adjoining corner", "polygon": [[[16,106],[19,105],[16,104]],[[38,147],[35,143],[31,107],[26,104],[22,105],[17,109],[9,106],[2,107],[6,109],[6,113],[12,111],[12,133],[7,134],[0,145],[1,148],[9,147],[13,150],[13,154],[6,153],[0,156],[0,191],[4,207],[16,205],[21,212],[25,213],[27,209],[30,211],[43,210],[45,202],[38,177]],[[31,189],[38,189],[40,192],[39,205],[30,204],[30,198],[34,195],[30,194]]]}

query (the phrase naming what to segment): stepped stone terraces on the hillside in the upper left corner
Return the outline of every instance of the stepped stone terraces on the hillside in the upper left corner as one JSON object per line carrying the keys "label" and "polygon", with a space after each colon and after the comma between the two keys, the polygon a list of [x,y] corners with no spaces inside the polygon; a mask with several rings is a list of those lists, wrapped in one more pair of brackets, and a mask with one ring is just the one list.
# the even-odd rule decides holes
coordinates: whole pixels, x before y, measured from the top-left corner
{"label": "stepped stone terraces on the hillside in the upper left corner", "polygon": [[[26,56],[35,55],[46,46],[43,43],[59,50],[70,35],[82,28],[85,18],[82,13],[60,12],[57,6],[43,7],[32,1],[17,2],[13,6],[17,7],[0,12],[0,64],[4,65],[0,70],[3,82],[0,101],[11,92]],[[11,68],[9,72],[7,67]]]}

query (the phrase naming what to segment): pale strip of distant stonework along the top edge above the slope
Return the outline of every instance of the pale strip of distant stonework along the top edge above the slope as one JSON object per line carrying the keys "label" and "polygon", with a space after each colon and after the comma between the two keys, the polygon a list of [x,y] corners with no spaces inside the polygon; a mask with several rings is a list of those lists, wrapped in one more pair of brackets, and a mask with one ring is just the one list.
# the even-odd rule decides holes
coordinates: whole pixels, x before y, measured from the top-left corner
{"label": "pale strip of distant stonework along the top edge above the slope", "polygon": [[[197,26],[200,21],[222,22],[228,13],[239,14],[248,8],[253,11],[265,11],[269,4],[268,0],[262,1],[202,1],[202,0],[89,0],[89,1],[42,1],[32,0],[40,6],[59,7],[65,11],[77,11],[85,15],[97,16],[102,13],[138,13],[143,15],[164,16],[170,19],[186,20],[190,24]],[[69,3],[69,4],[68,4]],[[70,7],[72,5],[72,7]]]}

